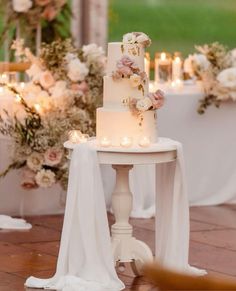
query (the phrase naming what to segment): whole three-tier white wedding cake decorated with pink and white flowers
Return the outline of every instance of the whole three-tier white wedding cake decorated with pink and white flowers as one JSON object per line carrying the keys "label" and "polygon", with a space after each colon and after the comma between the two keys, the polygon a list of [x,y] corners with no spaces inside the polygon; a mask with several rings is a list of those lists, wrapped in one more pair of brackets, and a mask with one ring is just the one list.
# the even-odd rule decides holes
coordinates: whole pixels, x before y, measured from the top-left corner
{"label": "whole three-tier white wedding cake decorated with pink and white flowers", "polygon": [[163,93],[148,91],[144,49],[150,42],[144,33],[134,32],[124,35],[123,42],[108,44],[103,107],[97,109],[96,131],[101,146],[157,142],[155,109],[162,106]]}

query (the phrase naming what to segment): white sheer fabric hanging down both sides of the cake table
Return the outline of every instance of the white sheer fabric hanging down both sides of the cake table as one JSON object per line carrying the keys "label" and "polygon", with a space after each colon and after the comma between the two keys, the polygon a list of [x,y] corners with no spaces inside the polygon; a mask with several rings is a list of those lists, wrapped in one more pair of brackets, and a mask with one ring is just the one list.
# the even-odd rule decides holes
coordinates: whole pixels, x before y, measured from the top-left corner
{"label": "white sheer fabric hanging down both sides of the cake table", "polygon": [[[163,148],[170,146],[177,149],[177,160],[156,166],[156,258],[168,268],[202,275],[204,270],[188,264],[189,205],[182,145],[162,139]],[[64,291],[124,288],[114,268],[97,153],[89,143],[76,146],[72,154],[56,274],[51,279],[30,277],[26,286]]]}

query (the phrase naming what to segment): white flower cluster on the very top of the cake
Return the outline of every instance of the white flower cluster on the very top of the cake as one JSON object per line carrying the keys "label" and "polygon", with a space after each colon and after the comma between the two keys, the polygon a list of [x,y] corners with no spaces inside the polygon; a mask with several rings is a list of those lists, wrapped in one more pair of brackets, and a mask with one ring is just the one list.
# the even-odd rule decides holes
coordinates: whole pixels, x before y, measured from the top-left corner
{"label": "white flower cluster on the very top of the cake", "polygon": [[140,46],[143,48],[149,47],[151,45],[151,39],[143,32],[130,32],[123,35],[123,41],[121,45],[121,51],[124,53],[125,44],[132,45],[128,48],[129,53],[132,55],[140,54]]}

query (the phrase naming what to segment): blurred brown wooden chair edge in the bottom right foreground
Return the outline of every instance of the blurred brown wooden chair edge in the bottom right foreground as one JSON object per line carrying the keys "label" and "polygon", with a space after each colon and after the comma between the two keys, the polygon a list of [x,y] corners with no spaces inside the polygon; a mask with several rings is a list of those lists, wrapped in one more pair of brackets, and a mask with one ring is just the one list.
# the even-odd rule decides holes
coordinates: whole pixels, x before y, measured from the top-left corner
{"label": "blurred brown wooden chair edge in the bottom right foreground", "polygon": [[158,290],[236,290],[236,279],[216,277],[213,275],[193,276],[174,272],[157,263],[145,265],[144,276]]}

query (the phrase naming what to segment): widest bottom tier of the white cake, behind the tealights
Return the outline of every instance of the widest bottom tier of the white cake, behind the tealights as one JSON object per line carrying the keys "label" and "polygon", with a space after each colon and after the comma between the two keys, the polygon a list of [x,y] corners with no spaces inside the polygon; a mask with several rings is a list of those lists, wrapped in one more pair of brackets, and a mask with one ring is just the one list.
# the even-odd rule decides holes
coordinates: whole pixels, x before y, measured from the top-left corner
{"label": "widest bottom tier of the white cake, behind the tealights", "polygon": [[120,146],[124,137],[132,145],[140,144],[143,138],[157,142],[157,118],[155,111],[145,111],[139,117],[129,110],[114,110],[104,107],[97,109],[96,135],[98,141],[108,139],[111,146]]}

